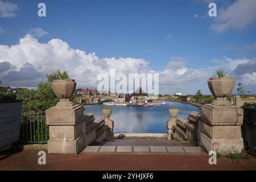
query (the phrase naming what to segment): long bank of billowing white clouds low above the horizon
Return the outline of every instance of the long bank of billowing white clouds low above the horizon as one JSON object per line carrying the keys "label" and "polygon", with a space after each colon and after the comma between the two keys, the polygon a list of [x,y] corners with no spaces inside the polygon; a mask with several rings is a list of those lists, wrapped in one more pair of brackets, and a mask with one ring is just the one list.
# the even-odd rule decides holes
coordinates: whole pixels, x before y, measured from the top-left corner
{"label": "long bank of billowing white clouds low above the horizon", "polygon": [[[154,71],[144,59],[132,57],[104,57],[96,53],[86,53],[69,47],[67,42],[51,39],[40,43],[32,35],[26,35],[13,46],[0,45],[0,80],[3,85],[35,87],[40,81],[46,81],[46,74],[57,69],[68,69],[71,78],[75,78],[78,87],[97,87],[100,73],[110,74],[110,69],[117,73],[159,73],[160,93],[171,93],[176,88],[187,89],[189,93],[197,89],[209,92],[207,80],[215,76],[217,68],[227,68],[231,73],[247,59],[224,57],[223,64],[204,69],[192,69],[186,66],[187,57],[172,57],[163,71]],[[256,72],[256,70],[255,70]],[[251,74],[251,72],[250,72]],[[246,75],[246,77],[249,77]],[[195,88],[195,85],[199,85]]]}

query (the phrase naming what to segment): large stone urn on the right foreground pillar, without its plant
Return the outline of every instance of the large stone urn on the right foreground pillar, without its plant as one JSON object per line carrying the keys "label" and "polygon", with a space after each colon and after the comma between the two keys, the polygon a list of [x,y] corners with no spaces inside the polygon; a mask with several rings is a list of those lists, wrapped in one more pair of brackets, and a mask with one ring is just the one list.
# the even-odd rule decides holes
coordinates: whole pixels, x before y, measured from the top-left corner
{"label": "large stone urn on the right foreground pillar, without its plant", "polygon": [[214,97],[228,97],[232,93],[236,80],[232,77],[209,78],[208,86]]}

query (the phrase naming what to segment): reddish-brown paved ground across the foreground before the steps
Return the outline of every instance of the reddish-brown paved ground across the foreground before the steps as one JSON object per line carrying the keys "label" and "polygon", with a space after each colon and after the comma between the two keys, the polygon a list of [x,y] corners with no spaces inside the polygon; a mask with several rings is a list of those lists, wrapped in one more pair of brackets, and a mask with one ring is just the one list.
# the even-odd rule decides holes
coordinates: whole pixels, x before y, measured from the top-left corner
{"label": "reddish-brown paved ground across the foreground before the steps", "polygon": [[37,151],[0,154],[0,170],[256,170],[256,158],[217,159],[208,164],[207,155],[147,154],[47,154],[46,165],[38,164]]}

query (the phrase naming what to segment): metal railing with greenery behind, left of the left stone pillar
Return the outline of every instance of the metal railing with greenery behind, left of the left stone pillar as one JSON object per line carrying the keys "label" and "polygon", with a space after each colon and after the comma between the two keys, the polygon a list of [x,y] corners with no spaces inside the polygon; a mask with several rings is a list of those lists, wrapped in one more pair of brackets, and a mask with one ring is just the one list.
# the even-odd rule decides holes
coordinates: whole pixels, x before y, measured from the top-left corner
{"label": "metal railing with greenery behind, left of the left stone pillar", "polygon": [[46,125],[44,111],[28,111],[22,113],[20,126],[20,142],[47,143],[49,127]]}

